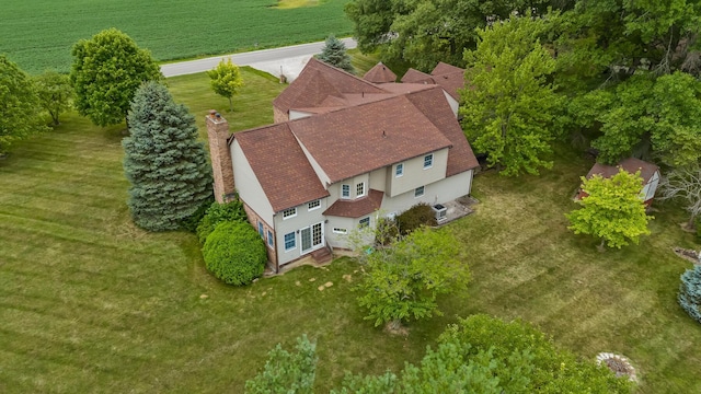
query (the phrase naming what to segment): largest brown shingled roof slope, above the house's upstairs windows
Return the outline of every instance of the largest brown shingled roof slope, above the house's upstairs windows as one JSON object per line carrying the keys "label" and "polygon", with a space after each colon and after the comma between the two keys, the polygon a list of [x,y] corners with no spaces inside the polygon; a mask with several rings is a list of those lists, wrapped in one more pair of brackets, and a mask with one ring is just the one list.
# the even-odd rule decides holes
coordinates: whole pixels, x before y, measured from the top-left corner
{"label": "largest brown shingled roof slope, above the house's upstairs windows", "polygon": [[288,124],[332,183],[452,144],[404,95]]}

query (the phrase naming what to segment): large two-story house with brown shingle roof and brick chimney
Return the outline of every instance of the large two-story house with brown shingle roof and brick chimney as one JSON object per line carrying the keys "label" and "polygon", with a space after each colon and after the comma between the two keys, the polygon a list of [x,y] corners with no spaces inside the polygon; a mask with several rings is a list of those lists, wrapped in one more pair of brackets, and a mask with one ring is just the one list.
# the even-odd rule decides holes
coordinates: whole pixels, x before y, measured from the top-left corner
{"label": "large two-story house with brown shingle roof and brick chimney", "polygon": [[275,270],[349,247],[378,215],[470,194],[478,161],[456,99],[388,71],[378,65],[370,82],[311,59],[274,101],[275,124],[229,136],[223,118],[207,117],[216,197],[238,192]]}

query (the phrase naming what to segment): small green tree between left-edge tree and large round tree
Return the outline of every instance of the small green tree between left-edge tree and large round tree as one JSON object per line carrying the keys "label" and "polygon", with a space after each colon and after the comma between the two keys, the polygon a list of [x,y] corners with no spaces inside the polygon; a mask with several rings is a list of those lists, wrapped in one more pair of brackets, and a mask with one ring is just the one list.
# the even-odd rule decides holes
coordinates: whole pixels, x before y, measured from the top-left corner
{"label": "small green tree between left-edge tree and large round tree", "polygon": [[51,116],[54,126],[60,125],[58,116],[70,109],[73,100],[73,88],[70,85],[70,78],[56,71],[45,71],[34,77],[34,88],[36,89],[39,104]]}

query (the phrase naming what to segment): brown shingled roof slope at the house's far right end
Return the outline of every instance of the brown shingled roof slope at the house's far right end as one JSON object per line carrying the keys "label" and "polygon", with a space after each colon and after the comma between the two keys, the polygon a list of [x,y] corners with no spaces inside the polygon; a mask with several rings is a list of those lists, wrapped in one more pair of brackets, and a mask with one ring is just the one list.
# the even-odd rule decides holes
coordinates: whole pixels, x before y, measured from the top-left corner
{"label": "brown shingled roof slope at the house's far right end", "polygon": [[407,94],[406,97],[450,140],[452,148],[448,151],[446,176],[452,176],[480,165],[474,152],[472,152],[472,147],[464,137],[462,127],[460,127],[440,89],[435,86]]}

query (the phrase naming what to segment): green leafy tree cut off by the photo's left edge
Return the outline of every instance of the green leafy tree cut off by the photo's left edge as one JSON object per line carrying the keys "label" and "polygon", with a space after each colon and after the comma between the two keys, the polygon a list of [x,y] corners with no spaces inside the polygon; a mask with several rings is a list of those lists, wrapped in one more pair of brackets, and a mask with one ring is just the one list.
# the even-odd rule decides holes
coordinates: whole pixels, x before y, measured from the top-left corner
{"label": "green leafy tree cut off by the photo's left edge", "polygon": [[12,143],[44,131],[38,99],[30,77],[0,55],[0,155]]}

